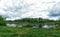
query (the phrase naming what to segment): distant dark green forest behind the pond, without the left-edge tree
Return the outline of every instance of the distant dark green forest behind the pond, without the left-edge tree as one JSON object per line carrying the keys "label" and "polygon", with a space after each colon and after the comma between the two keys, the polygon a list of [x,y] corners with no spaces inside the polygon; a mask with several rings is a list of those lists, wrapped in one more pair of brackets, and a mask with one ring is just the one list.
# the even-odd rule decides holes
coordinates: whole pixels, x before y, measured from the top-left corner
{"label": "distant dark green forest behind the pond, without the left-edge tree", "polygon": [[60,25],[60,20],[49,20],[43,18],[23,18],[14,21],[8,21],[9,23],[18,23],[18,24],[58,24]]}

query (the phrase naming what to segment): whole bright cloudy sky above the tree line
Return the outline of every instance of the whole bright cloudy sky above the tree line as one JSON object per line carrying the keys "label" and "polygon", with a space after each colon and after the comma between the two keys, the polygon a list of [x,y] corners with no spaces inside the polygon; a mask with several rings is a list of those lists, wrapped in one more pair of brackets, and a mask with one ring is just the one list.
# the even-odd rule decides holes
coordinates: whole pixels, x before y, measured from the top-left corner
{"label": "whole bright cloudy sky above the tree line", "polygon": [[0,15],[6,20],[60,18],[60,0],[0,0]]}

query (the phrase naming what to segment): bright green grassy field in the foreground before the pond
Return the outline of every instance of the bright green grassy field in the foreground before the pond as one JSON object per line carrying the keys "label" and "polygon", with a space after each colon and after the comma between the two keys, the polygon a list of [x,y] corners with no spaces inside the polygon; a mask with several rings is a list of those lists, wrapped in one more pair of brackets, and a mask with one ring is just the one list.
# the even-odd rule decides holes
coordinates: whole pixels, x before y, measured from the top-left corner
{"label": "bright green grassy field in the foreground before the pond", "polygon": [[60,37],[60,30],[0,26],[0,37]]}

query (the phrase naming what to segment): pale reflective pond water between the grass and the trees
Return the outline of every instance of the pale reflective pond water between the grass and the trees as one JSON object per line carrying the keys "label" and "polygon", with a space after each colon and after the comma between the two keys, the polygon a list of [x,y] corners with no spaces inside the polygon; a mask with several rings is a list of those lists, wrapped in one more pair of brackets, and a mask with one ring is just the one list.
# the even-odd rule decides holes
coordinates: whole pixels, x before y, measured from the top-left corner
{"label": "pale reflective pond water between the grass and the trees", "polygon": [[[24,27],[23,24],[7,24],[8,27]],[[41,28],[55,28],[56,26],[58,25],[47,25],[47,24],[44,24],[41,26]],[[38,24],[34,24],[31,26],[32,28],[39,28],[39,25]]]}

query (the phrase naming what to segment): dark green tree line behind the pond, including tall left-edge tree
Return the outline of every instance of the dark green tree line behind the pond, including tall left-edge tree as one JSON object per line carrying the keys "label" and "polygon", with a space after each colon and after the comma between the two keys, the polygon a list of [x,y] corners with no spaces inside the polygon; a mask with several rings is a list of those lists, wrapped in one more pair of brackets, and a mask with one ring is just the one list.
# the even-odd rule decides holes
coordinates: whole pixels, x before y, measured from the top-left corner
{"label": "dark green tree line behind the pond, including tall left-edge tree", "polygon": [[22,18],[14,21],[7,21],[5,18],[0,16],[0,25],[6,26],[7,23],[18,23],[18,24],[58,24],[60,25],[60,20],[49,20],[43,18]]}

